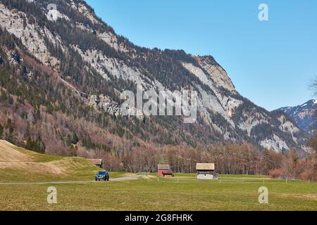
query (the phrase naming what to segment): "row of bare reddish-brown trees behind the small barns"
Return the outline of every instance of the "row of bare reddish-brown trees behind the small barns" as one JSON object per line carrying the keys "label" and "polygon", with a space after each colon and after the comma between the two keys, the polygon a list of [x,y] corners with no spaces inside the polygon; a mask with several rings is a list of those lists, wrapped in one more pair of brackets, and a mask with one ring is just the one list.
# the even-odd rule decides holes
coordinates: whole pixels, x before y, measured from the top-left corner
{"label": "row of bare reddish-brown trees behind the small barns", "polygon": [[212,146],[208,150],[189,146],[140,146],[128,151],[97,152],[97,156],[104,159],[104,169],[109,171],[156,172],[157,165],[168,164],[173,172],[194,173],[197,163],[213,162],[218,174],[261,174],[317,181],[316,136],[308,145],[311,151],[305,157],[296,148],[282,153],[260,150],[248,143]]}

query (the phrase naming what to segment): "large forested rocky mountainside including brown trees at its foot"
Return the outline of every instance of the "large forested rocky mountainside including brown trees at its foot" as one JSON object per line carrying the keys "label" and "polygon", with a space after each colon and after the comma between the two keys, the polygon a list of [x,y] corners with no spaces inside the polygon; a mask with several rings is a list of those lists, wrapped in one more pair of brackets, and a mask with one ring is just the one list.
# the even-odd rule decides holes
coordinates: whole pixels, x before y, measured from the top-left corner
{"label": "large forested rocky mountainside including brown trees at its foot", "polygon": [[[296,158],[294,148],[306,153],[308,134],[241,96],[212,56],[135,46],[80,0],[3,0],[0,17],[0,139],[133,172],[161,162],[190,172],[213,160],[224,174],[268,174]],[[120,92],[137,86],[197,91],[197,122],[124,117]]]}

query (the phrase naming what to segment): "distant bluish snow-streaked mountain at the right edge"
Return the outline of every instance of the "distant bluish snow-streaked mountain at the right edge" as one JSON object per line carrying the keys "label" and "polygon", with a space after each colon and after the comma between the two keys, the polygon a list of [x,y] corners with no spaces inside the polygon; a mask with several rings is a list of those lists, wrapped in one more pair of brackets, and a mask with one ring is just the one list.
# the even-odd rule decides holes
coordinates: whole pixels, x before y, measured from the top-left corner
{"label": "distant bluish snow-streaked mountain at the right edge", "polygon": [[310,100],[303,105],[294,107],[285,107],[282,110],[284,113],[292,117],[297,122],[298,126],[309,134],[312,134],[317,129],[317,100]]}

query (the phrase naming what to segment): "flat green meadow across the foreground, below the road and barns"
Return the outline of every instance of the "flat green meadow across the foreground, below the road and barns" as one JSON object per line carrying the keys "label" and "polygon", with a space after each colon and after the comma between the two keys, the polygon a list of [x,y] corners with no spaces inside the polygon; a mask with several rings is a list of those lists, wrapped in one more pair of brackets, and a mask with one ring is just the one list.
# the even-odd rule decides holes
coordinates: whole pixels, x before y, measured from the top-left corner
{"label": "flat green meadow across the foreground, below the road and barns", "polygon": [[[57,204],[47,203],[51,185],[0,186],[0,210],[317,210],[317,184],[222,176],[198,181],[195,174],[158,179],[56,184]],[[261,186],[269,203],[259,204]]]}

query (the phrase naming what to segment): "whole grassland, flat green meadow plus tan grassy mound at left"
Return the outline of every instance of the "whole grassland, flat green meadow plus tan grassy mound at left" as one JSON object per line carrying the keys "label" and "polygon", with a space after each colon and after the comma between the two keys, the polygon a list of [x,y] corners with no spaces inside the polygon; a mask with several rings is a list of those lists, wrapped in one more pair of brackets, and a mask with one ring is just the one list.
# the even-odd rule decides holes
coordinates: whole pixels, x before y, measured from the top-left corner
{"label": "whole grassland, flat green meadow plus tan grassy mound at left", "polygon": [[[0,141],[0,183],[91,181],[98,170],[82,158],[42,155]],[[47,203],[49,186],[57,189],[57,204]],[[266,205],[258,200],[261,186],[268,188]],[[89,184],[0,185],[0,210],[317,210],[317,183],[266,176],[224,175],[202,181],[196,174],[170,179],[147,174]]]}

